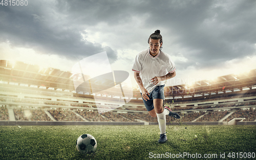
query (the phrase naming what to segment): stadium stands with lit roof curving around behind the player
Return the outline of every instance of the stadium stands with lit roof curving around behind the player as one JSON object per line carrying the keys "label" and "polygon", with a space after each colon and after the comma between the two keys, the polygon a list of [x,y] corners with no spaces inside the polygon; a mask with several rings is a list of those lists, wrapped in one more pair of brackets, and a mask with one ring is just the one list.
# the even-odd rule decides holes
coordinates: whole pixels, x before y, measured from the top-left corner
{"label": "stadium stands with lit roof curving around behind the player", "polygon": [[[1,60],[0,121],[10,121],[13,112],[16,121],[157,122],[157,118],[148,115],[138,89],[124,106],[118,105],[120,98],[113,98],[115,92],[99,95],[101,101],[96,103],[92,93],[75,92],[73,74]],[[255,121],[255,75],[256,70],[251,70],[190,86],[165,87],[165,102],[179,112],[179,122],[218,122],[225,117],[225,122],[234,118]],[[99,114],[97,106],[111,111]],[[166,122],[176,121],[166,117]]]}

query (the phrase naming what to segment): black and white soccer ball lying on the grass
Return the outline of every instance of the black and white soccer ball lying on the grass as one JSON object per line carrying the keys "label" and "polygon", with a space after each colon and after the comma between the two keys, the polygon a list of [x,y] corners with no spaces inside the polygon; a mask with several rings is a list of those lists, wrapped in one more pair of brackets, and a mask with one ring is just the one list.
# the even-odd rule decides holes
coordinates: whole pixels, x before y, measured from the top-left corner
{"label": "black and white soccer ball lying on the grass", "polygon": [[91,134],[82,134],[76,140],[76,149],[82,154],[95,153],[97,142]]}

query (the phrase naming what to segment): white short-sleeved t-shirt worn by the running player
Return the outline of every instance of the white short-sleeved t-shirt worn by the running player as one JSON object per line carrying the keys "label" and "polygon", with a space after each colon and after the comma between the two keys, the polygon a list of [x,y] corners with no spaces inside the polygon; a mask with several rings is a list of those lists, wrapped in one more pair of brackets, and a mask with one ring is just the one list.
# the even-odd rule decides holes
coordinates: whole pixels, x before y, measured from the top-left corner
{"label": "white short-sleeved t-shirt worn by the running player", "polygon": [[140,78],[144,88],[148,93],[151,93],[156,86],[164,85],[164,81],[154,85],[151,82],[151,79],[155,76],[161,77],[168,73],[175,72],[175,64],[168,54],[160,51],[155,57],[153,57],[150,55],[150,50],[146,49],[136,56],[132,70],[140,73]]}

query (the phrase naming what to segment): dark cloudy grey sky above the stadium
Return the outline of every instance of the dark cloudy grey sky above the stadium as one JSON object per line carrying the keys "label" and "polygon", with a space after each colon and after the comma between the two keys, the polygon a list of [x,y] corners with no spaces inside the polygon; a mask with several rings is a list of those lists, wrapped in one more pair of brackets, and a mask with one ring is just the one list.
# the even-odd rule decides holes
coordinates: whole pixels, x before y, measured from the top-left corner
{"label": "dark cloudy grey sky above the stadium", "polygon": [[173,84],[241,73],[256,68],[255,8],[254,0],[0,5],[0,58],[71,71],[77,61],[106,51],[112,70],[133,79],[135,56],[159,29],[163,51],[176,64]]}

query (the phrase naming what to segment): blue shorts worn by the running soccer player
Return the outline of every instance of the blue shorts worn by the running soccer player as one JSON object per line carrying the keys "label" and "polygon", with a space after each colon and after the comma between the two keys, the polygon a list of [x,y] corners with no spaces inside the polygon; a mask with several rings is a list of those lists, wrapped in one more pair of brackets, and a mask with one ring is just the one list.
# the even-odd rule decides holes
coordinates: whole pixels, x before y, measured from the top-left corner
{"label": "blue shorts worn by the running soccer player", "polygon": [[[142,94],[141,94],[141,97],[142,97]],[[142,98],[142,100],[144,102],[146,110],[147,111],[151,111],[152,109],[154,109],[154,104],[153,104],[153,100],[154,99],[162,99],[162,100],[164,100],[164,85],[156,86],[154,88],[154,90],[150,93],[148,98],[150,98],[150,100],[147,99],[147,101],[145,101],[143,98]]]}

